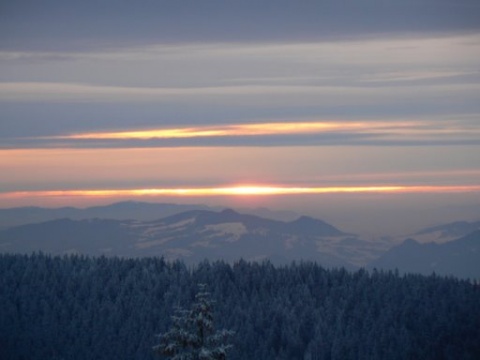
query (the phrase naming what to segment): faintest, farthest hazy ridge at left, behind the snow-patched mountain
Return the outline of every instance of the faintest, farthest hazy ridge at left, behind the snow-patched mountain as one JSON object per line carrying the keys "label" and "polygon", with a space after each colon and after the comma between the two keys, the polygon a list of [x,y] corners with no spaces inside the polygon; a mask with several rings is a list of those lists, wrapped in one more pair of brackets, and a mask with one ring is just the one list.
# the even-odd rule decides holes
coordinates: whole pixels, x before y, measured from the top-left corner
{"label": "faintest, farthest hazy ridge at left, behind the snow-patched mountain", "polygon": [[[18,207],[0,209],[0,229],[62,218],[68,218],[72,220],[101,218],[149,221],[190,210],[219,211],[222,209],[223,207],[209,207],[198,204],[181,205],[137,201],[124,201],[105,206],[92,206],[85,209],[74,207]],[[294,212],[273,211],[266,208],[242,209],[241,211],[244,213],[282,221],[293,220],[298,217],[298,215]]]}

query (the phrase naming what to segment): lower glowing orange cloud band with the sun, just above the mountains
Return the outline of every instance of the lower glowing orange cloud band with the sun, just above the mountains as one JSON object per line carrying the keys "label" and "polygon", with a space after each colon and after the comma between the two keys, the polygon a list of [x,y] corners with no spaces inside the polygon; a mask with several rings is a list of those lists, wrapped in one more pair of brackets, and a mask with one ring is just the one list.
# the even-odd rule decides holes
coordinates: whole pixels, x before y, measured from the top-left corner
{"label": "lower glowing orange cloud band with the sun, just above the mountains", "polygon": [[0,194],[1,198],[24,197],[119,197],[119,196],[273,196],[332,193],[446,193],[478,192],[480,185],[455,186],[344,186],[344,187],[281,187],[281,186],[232,186],[212,188],[154,188],[119,190],[53,190],[16,191]]}

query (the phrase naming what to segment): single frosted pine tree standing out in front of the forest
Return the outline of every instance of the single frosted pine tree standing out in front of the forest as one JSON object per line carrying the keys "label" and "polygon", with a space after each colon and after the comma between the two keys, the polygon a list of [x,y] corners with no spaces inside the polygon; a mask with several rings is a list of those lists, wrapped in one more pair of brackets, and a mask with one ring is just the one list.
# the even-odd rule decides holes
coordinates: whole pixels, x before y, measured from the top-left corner
{"label": "single frosted pine tree standing out in front of the forest", "polygon": [[216,331],[213,322],[213,301],[206,285],[200,291],[190,310],[176,309],[172,327],[160,334],[160,344],[153,350],[171,360],[225,360],[231,345],[226,341],[233,333]]}

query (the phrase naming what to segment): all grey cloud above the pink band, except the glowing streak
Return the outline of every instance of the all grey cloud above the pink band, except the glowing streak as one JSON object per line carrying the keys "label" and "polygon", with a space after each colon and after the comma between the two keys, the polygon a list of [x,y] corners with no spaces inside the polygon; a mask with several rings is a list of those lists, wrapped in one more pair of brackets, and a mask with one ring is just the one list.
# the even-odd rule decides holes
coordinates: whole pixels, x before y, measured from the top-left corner
{"label": "all grey cloud above the pink band, except the glowing streak", "polygon": [[[0,6],[1,148],[478,144],[468,132],[480,114],[478,1]],[[458,121],[466,130],[410,139],[355,132],[52,139],[304,119]]]}

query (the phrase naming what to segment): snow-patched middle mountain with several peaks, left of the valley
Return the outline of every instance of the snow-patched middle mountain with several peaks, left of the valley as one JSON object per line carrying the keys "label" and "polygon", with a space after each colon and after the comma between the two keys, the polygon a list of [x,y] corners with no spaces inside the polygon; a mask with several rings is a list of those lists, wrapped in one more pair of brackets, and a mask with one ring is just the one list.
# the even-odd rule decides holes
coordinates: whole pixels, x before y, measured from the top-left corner
{"label": "snow-patched middle mountain with several peaks, left of the valley", "polygon": [[190,263],[303,259],[351,268],[342,256],[351,241],[351,235],[306,216],[283,222],[233,210],[191,210],[154,221],[57,219],[11,227],[0,231],[0,252],[164,256]]}

